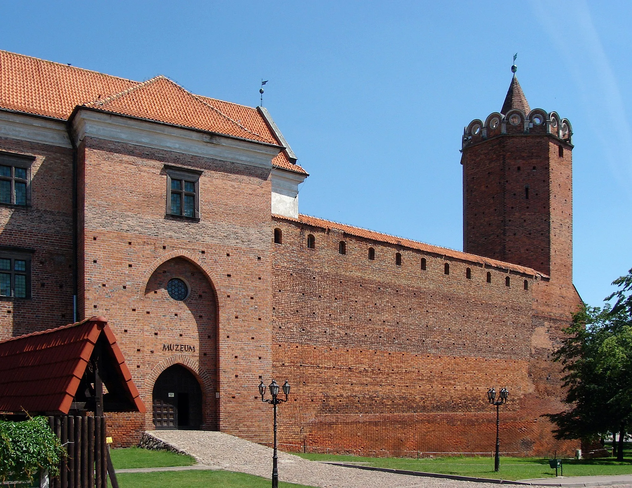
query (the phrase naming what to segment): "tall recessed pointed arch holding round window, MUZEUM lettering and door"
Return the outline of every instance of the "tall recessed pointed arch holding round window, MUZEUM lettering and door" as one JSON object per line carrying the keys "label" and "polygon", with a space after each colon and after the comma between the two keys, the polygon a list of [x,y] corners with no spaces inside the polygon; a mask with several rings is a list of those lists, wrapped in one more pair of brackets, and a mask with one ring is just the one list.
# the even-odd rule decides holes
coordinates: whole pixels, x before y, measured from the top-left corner
{"label": "tall recessed pointed arch holding round window, MUZEUM lettering and door", "polygon": [[216,430],[218,303],[209,272],[191,256],[171,256],[157,263],[140,292],[152,341],[145,385],[155,428]]}

